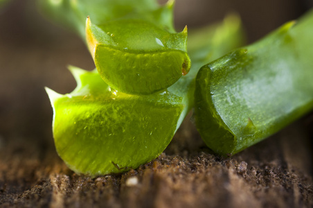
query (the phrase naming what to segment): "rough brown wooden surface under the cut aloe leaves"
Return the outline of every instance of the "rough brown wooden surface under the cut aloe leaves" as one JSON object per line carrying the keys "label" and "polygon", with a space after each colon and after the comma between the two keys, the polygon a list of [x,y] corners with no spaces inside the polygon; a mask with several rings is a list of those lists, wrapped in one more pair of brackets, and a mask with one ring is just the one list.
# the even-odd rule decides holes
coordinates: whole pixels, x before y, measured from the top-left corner
{"label": "rough brown wooden surface under the cut aloe leaves", "polygon": [[0,205],[312,207],[312,152],[300,126],[231,158],[211,154],[185,128],[154,161],[94,179],[70,171],[52,145],[8,141],[1,145]]}

